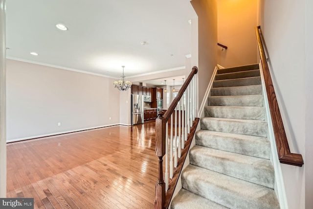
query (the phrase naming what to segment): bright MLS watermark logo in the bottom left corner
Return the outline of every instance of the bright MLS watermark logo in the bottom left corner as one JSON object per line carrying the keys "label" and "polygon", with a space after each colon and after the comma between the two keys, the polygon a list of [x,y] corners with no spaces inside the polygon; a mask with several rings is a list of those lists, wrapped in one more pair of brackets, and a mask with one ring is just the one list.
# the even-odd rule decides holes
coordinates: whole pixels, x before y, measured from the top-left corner
{"label": "bright MLS watermark logo in the bottom left corner", "polygon": [[0,209],[34,209],[34,198],[0,198]]}

